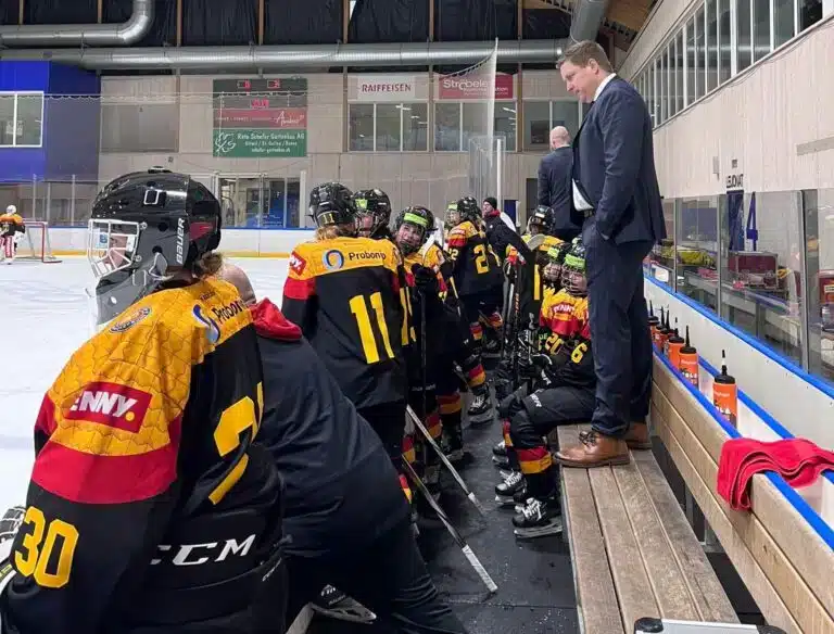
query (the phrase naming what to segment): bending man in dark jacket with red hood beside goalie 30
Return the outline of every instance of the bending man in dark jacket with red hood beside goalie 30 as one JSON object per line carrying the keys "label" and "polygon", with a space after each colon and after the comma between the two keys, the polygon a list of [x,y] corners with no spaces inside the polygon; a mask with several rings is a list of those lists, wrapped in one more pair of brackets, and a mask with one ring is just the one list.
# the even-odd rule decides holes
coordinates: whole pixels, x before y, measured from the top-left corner
{"label": "bending man in dark jacket with red hood beside goalie 30", "polygon": [[465,633],[441,601],[412,532],[408,504],[382,442],[356,414],[301,329],[245,274],[222,277],[250,306],[264,366],[257,442],[285,484],[288,624],[331,583],[405,634]]}

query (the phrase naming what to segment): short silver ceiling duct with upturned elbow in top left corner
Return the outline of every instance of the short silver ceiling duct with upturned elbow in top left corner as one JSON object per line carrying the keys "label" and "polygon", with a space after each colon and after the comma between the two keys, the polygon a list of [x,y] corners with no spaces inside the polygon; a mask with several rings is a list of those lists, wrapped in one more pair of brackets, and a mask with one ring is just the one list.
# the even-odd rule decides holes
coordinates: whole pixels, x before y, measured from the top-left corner
{"label": "short silver ceiling duct with upturned elbow in top left corner", "polygon": [[132,14],[121,24],[5,24],[0,47],[126,47],[146,36],[153,11],[154,0],[134,0]]}

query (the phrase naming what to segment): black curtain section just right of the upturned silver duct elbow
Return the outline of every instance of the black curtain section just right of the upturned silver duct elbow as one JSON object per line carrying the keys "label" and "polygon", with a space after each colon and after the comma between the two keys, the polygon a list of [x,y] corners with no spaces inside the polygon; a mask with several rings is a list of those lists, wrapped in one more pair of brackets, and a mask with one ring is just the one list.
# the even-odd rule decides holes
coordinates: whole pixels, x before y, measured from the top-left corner
{"label": "black curtain section just right of the upturned silver duct elbow", "polygon": [[257,0],[182,0],[182,46],[257,43]]}

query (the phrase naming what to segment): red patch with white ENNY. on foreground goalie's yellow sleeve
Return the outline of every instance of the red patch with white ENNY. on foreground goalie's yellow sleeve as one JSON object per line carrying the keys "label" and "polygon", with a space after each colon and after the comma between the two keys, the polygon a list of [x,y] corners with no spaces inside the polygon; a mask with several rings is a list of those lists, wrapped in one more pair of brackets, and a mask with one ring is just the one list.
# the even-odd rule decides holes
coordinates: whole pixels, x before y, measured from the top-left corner
{"label": "red patch with white ENNY. on foreground goalie's yellow sleeve", "polygon": [[150,404],[148,392],[97,381],[84,386],[64,418],[98,422],[136,433],[142,427]]}

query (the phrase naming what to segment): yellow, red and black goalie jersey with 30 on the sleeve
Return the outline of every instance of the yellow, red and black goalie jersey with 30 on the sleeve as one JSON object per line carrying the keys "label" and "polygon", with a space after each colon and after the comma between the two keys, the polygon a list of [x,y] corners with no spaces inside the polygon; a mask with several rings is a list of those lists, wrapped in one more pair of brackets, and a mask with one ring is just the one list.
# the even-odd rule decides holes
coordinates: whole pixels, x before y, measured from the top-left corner
{"label": "yellow, red and black goalie jersey with 30 on the sleeve", "polygon": [[[280,529],[279,479],[253,446],[263,401],[250,312],[226,282],[155,292],[87,341],[38,414],[3,632],[129,631],[194,575],[256,566]],[[218,563],[250,534],[248,554]],[[201,550],[184,567],[189,538]]]}

